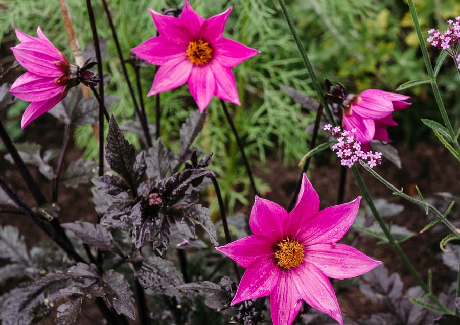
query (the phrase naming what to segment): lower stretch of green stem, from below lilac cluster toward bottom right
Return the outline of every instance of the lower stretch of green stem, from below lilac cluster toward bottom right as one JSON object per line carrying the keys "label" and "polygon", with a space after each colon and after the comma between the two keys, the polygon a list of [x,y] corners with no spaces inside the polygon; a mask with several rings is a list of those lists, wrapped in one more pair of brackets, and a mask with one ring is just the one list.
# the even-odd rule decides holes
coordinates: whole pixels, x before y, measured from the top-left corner
{"label": "lower stretch of green stem, from below lilac cluster toward bottom right", "polygon": [[398,254],[399,258],[403,262],[404,266],[409,270],[410,274],[413,276],[415,281],[418,283],[418,285],[422,288],[422,290],[425,292],[425,294],[431,299],[431,301],[438,306],[441,310],[443,310],[445,313],[451,313],[451,311],[444,306],[441,301],[434,296],[428,286],[423,282],[422,278],[420,277],[419,273],[417,270],[413,267],[412,263],[410,263],[409,259],[407,258],[406,254],[404,251],[401,249],[401,246],[399,243],[395,240],[393,237],[392,233],[388,230],[385,222],[383,221],[382,217],[378,213],[374,202],[372,201],[371,195],[369,194],[369,191],[367,191],[366,185],[364,184],[363,179],[361,178],[361,175],[359,174],[358,168],[356,166],[352,167],[353,174],[355,175],[355,179],[358,182],[358,186],[361,189],[362,195],[364,196],[364,199],[366,200],[367,205],[371,209],[375,220],[379,223],[380,227],[382,228],[383,233],[385,234],[385,237],[388,239],[389,243],[393,246],[393,248],[396,250],[396,253]]}

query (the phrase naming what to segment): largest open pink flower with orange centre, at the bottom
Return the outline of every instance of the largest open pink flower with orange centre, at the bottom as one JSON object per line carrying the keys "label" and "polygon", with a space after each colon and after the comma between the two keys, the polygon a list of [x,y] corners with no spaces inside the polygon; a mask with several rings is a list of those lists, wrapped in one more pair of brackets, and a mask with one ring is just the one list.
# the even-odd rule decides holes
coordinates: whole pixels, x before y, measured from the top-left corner
{"label": "largest open pink flower with orange centre, at the bottom", "polygon": [[290,213],[256,196],[249,219],[254,235],[216,247],[246,268],[232,305],[269,295],[273,324],[291,324],[305,300],[343,324],[328,277],[354,277],[381,264],[337,244],[353,223],[360,200],[318,212],[318,194],[305,174]]}

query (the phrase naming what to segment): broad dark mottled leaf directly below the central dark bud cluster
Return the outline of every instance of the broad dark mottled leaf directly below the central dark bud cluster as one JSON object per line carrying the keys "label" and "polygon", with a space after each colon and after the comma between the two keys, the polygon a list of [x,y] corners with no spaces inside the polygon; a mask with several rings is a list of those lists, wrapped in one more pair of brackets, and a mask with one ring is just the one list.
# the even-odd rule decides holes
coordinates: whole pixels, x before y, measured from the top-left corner
{"label": "broad dark mottled leaf directly below the central dark bud cluster", "polygon": [[171,261],[159,257],[149,257],[142,262],[141,268],[135,272],[139,283],[156,294],[180,297],[183,294],[177,288],[183,285],[182,273]]}

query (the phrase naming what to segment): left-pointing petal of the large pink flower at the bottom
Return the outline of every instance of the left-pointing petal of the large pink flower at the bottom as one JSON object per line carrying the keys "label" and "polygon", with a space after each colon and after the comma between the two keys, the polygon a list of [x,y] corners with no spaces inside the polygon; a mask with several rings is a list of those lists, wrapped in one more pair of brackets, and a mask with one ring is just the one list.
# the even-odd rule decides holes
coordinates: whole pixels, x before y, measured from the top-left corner
{"label": "left-pointing petal of the large pink flower at the bottom", "polygon": [[247,269],[259,258],[273,258],[275,245],[276,243],[267,237],[248,236],[216,249]]}

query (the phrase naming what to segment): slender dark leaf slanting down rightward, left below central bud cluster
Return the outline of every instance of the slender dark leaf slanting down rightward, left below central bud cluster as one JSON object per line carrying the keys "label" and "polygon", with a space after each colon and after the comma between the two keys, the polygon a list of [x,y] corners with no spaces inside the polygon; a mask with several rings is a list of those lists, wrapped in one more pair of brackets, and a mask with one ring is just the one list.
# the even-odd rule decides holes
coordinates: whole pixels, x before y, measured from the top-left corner
{"label": "slender dark leaf slanting down rightward, left below central bud cluster", "polygon": [[113,240],[112,234],[100,224],[90,222],[62,223],[64,229],[72,231],[85,244],[100,250],[122,254],[120,247]]}

